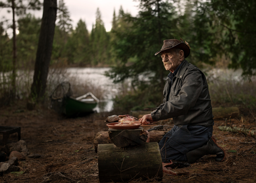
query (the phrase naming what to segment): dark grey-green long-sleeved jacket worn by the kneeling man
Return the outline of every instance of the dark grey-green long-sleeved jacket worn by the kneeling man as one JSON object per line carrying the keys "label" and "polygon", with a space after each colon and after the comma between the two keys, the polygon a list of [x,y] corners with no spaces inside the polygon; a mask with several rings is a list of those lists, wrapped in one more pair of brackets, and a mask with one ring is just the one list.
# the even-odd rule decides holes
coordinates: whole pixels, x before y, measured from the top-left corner
{"label": "dark grey-green long-sleeved jacket worn by the kneeling man", "polygon": [[176,126],[212,126],[214,121],[206,77],[188,61],[181,64],[172,80],[166,78],[163,103],[151,113],[152,119],[173,118]]}

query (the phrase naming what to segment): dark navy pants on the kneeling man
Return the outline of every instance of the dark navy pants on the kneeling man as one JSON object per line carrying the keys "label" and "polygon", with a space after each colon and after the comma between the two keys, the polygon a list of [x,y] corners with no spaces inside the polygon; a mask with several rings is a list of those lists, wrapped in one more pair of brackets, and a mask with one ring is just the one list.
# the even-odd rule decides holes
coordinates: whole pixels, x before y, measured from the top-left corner
{"label": "dark navy pants on the kneeling man", "polygon": [[212,126],[174,126],[159,142],[162,162],[187,161],[186,153],[204,145],[212,137]]}

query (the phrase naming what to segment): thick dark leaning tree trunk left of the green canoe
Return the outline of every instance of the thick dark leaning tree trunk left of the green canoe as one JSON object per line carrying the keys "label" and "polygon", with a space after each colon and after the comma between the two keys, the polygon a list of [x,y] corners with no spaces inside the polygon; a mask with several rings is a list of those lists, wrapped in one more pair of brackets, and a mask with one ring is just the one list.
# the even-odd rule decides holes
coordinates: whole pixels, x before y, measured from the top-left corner
{"label": "thick dark leaning tree trunk left of the green canoe", "polygon": [[30,101],[41,101],[44,97],[52,54],[56,15],[57,0],[44,0],[44,10],[37,47],[37,57],[33,84],[31,86]]}

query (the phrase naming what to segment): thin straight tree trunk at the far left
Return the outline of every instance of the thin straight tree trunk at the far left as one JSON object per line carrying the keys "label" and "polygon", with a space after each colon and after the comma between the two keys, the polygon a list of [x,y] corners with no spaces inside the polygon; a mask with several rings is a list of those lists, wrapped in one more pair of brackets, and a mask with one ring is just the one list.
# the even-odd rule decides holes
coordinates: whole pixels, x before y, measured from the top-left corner
{"label": "thin straight tree trunk at the far left", "polygon": [[15,98],[16,95],[16,59],[17,59],[17,49],[16,49],[16,24],[15,24],[15,4],[12,0],[12,10],[13,10],[13,73],[11,79],[11,95],[12,98]]}

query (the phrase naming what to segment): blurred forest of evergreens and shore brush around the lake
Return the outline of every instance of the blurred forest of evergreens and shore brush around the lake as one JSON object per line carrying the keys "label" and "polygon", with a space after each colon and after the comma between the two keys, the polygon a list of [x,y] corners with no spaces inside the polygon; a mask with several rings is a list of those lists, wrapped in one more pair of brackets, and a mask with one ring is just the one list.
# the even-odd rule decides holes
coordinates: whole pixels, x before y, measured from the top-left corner
{"label": "blurred forest of evergreens and shore brush around the lake", "polygon": [[[256,1],[252,0],[137,0],[138,15],[113,12],[112,29],[107,32],[97,9],[92,30],[79,20],[71,25],[70,13],[63,0],[57,3],[57,20],[47,80],[47,92],[56,86],[68,67],[111,67],[105,73],[116,83],[129,84],[114,98],[114,106],[122,111],[157,107],[168,72],[160,57],[163,40],[180,37],[191,46],[188,61],[209,70],[242,70],[237,78],[223,78],[222,72],[211,79],[207,75],[213,105],[242,105],[255,109],[256,103]],[[5,8],[11,0],[0,1]],[[14,0],[16,5],[21,1]],[[42,8],[35,1],[30,9]],[[31,71],[34,70],[41,19],[16,7],[15,22],[17,59],[13,62],[13,37],[5,28],[12,20],[0,21],[0,105],[29,98]],[[15,69],[14,69],[15,68]],[[27,73],[12,84],[13,72]],[[216,74],[215,74],[216,75]],[[53,81],[54,80],[54,81]],[[13,95],[13,87],[16,87]],[[101,98],[100,96],[98,96]],[[102,97],[103,98],[103,97]]]}

